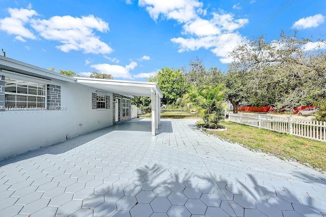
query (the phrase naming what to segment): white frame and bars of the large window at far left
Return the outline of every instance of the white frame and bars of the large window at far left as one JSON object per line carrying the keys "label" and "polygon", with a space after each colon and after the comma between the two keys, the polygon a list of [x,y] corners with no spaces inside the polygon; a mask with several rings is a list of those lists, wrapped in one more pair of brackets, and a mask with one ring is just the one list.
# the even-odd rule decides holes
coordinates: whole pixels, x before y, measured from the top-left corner
{"label": "white frame and bars of the large window at far left", "polygon": [[[13,85],[14,84],[14,85]],[[19,85],[23,84],[23,85]],[[8,87],[14,87],[15,92],[8,92]],[[33,88],[32,88],[33,87]],[[26,93],[18,93],[18,88],[26,89]],[[7,91],[6,91],[7,89]],[[36,94],[31,94],[30,92],[34,92]],[[39,94],[41,93],[41,94]],[[14,100],[6,100],[9,96],[14,96]],[[25,100],[19,100],[17,96],[22,98],[25,97]],[[30,101],[29,98],[34,98],[35,101]],[[42,98],[41,100],[39,100]],[[9,103],[14,102],[15,106],[10,106]],[[17,106],[17,103],[25,103],[25,106]],[[29,105],[32,104],[32,105]],[[42,105],[40,106],[39,103]],[[47,106],[47,85],[40,82],[33,82],[31,80],[25,80],[20,78],[13,78],[6,76],[5,77],[5,110],[46,110]]]}

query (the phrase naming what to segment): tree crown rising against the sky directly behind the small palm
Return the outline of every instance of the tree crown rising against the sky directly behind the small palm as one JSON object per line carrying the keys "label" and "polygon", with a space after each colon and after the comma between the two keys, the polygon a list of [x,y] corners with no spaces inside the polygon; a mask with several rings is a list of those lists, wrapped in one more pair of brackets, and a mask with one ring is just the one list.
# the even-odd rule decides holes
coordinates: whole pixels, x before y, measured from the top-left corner
{"label": "tree crown rising against the sky directly behind the small palm", "polygon": [[206,67],[198,58],[189,63],[189,69],[183,67],[182,71],[187,87],[195,85],[198,89],[203,89],[205,86],[216,86],[224,82],[224,75],[221,69],[211,67],[206,70]]}

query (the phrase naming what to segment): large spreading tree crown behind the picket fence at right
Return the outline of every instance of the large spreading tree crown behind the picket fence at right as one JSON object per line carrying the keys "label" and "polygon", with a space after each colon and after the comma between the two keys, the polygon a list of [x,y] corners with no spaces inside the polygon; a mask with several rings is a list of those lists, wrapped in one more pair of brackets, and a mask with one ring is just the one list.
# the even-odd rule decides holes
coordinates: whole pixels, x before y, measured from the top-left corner
{"label": "large spreading tree crown behind the picket fence at right", "polygon": [[[266,42],[260,36],[240,44],[232,52],[233,62],[226,78],[237,80],[229,87],[230,79],[226,82],[226,94],[233,86],[241,101],[277,108],[311,105],[317,98],[325,99],[326,51],[306,50],[304,45],[308,42],[311,40],[298,39],[295,32],[293,35],[282,32],[278,40]],[[235,75],[229,75],[232,73]],[[239,88],[239,84],[243,87]]]}

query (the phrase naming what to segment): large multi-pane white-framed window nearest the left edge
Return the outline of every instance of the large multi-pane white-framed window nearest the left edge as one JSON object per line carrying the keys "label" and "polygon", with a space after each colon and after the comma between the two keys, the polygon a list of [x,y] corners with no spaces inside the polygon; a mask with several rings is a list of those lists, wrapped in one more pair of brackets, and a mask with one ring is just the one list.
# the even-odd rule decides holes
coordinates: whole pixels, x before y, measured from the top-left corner
{"label": "large multi-pane white-framed window nearest the left edge", "polygon": [[46,85],[7,78],[5,107],[45,108]]}

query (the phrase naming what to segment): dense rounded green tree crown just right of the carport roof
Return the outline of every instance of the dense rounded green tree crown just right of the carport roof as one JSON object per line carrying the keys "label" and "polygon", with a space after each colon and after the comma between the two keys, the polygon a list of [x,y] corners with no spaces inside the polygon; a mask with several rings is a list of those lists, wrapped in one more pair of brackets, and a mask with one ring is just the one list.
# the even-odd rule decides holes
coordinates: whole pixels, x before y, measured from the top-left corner
{"label": "dense rounded green tree crown just right of the carport roof", "polygon": [[180,69],[162,68],[157,74],[151,76],[148,82],[157,82],[163,94],[161,104],[174,104],[185,92],[184,77]]}

